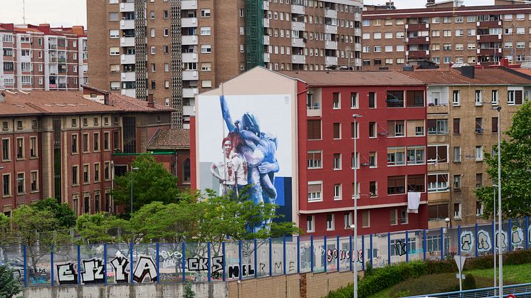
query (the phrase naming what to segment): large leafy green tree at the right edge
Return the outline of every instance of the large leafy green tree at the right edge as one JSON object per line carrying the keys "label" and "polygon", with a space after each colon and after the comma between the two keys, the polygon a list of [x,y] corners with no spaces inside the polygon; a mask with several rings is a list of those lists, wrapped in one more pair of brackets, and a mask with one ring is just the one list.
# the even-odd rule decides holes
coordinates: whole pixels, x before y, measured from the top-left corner
{"label": "large leafy green tree at the right edge", "polygon": [[[507,139],[501,142],[502,212],[507,217],[522,217],[531,214],[531,102],[525,102],[512,117],[512,125],[505,132]],[[485,153],[487,174],[498,184],[498,145],[494,155]],[[493,213],[493,195],[498,189],[483,186],[475,190],[485,216]],[[498,198],[496,198],[498,200]]]}

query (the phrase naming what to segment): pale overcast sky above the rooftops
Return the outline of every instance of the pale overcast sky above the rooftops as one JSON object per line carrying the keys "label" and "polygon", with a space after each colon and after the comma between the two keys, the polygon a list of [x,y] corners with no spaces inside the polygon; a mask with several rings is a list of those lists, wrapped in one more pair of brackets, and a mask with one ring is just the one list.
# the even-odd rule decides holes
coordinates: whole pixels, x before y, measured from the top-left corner
{"label": "pale overcast sky above the rooftops", "polygon": [[[22,2],[23,0],[0,0],[2,6],[0,23],[23,23]],[[385,2],[386,0],[364,0],[365,4],[385,4]],[[397,9],[419,8],[424,7],[424,4],[426,4],[426,0],[394,0],[394,6]],[[494,0],[465,0],[467,6],[490,4],[494,4]],[[87,7],[85,0],[26,0],[26,23],[51,23],[52,26],[86,26]]]}

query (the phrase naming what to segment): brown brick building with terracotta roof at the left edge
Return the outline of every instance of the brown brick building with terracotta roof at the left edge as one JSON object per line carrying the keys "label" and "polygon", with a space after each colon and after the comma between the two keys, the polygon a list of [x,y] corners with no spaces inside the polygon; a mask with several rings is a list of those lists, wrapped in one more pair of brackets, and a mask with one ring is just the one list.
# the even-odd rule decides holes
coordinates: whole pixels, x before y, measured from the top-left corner
{"label": "brown brick building with terracotta roof at the left edge", "polygon": [[79,91],[0,92],[1,212],[50,197],[76,214],[114,210],[112,154],[145,152],[172,110],[121,95],[106,103]]}

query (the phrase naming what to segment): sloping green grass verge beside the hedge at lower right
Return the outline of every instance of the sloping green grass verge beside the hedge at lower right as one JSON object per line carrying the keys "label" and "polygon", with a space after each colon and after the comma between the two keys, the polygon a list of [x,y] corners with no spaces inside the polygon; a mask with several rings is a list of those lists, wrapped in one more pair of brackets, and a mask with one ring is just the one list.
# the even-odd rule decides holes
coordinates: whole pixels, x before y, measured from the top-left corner
{"label": "sloping green grass verge beside the hedge at lower right", "polygon": [[[493,287],[493,269],[468,270],[463,274],[472,274],[478,288]],[[504,284],[523,284],[531,282],[531,264],[504,266]],[[459,289],[456,273],[443,273],[439,275],[425,275],[412,280],[406,280],[393,287],[382,289],[369,298],[380,297],[405,297],[438,292],[453,292]]]}

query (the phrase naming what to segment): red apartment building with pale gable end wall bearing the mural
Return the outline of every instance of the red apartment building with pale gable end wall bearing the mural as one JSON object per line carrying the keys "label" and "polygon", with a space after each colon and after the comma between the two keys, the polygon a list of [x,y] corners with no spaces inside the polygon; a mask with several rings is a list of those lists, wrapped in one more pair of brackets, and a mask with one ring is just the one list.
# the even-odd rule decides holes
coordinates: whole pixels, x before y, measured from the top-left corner
{"label": "red apartment building with pale gable end wall bearing the mural", "polygon": [[[219,95],[224,95],[229,110],[235,107],[234,99],[243,109],[262,115],[258,120],[263,130],[279,136],[279,151],[290,144],[288,157],[277,151],[279,164],[280,159],[290,163],[280,164],[280,169],[288,168],[285,176],[291,181],[290,189],[278,193],[289,191],[293,199],[285,196],[290,206],[281,206],[279,212],[309,235],[352,233],[347,226],[354,209],[354,166],[359,233],[427,228],[426,86],[421,81],[391,71],[274,73],[263,68],[228,80],[196,97],[191,159],[192,187],[198,189],[216,187],[208,171],[209,162],[218,156],[209,156],[203,147],[209,139],[200,134],[209,129],[207,121],[218,123],[211,115],[218,113]],[[241,95],[246,102],[238,101]],[[275,107],[268,112],[256,108],[278,95],[289,119],[278,117],[285,111]],[[361,116],[355,128],[353,114]],[[285,130],[289,137],[281,139]],[[408,191],[420,193],[418,213],[407,211]]]}

